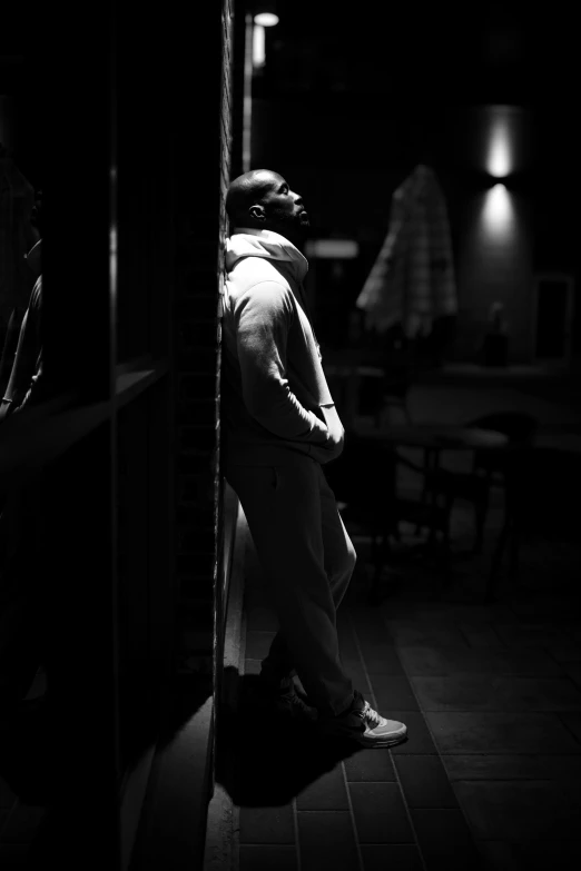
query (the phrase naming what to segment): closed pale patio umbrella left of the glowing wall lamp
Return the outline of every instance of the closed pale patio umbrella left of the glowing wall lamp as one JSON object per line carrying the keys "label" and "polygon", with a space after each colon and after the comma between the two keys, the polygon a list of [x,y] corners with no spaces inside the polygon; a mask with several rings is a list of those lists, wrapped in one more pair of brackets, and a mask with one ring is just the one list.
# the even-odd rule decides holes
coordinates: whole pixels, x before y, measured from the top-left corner
{"label": "closed pale patio umbrella left of the glowing wall lamp", "polygon": [[447,209],[435,174],[420,164],[392,198],[390,230],[356,306],[367,329],[427,335],[457,311]]}

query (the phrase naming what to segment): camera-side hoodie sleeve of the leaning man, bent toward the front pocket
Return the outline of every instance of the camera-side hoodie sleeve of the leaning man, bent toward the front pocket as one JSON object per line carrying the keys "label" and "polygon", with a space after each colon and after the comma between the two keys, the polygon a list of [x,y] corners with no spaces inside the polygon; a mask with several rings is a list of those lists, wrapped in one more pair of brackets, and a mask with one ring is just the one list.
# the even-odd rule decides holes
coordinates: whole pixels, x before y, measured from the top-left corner
{"label": "camera-side hoodie sleeve of the leaning man, bent toward the front pocket", "polygon": [[248,413],[282,438],[325,442],[328,428],[298,402],[286,377],[287,336],[295,317],[288,290],[276,281],[254,285],[240,295],[234,315]]}

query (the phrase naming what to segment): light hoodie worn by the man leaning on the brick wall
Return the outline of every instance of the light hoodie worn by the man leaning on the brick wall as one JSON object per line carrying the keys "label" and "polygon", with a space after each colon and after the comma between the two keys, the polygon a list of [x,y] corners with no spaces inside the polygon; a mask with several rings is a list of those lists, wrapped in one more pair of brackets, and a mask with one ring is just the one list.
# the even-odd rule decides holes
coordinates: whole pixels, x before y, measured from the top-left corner
{"label": "light hoodie worn by the man leaning on the brick wall", "polygon": [[226,465],[328,463],[345,433],[321,365],[303,280],[277,232],[236,229],[226,248],[221,423]]}

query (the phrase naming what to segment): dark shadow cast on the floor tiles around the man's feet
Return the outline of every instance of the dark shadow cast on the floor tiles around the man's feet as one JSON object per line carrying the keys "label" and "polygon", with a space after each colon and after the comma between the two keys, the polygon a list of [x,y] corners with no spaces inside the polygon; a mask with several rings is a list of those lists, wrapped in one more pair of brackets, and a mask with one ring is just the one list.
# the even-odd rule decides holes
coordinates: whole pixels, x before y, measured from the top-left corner
{"label": "dark shadow cast on the floor tiles around the man's feet", "polygon": [[216,780],[235,804],[280,806],[361,748],[329,740],[308,721],[279,714],[257,675],[224,673],[217,717]]}

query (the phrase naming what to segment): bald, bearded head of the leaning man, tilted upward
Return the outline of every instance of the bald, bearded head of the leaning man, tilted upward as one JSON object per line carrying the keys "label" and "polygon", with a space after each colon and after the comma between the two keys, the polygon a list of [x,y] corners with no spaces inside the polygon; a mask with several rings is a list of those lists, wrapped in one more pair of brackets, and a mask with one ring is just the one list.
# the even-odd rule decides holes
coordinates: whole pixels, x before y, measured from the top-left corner
{"label": "bald, bearded head of the leaning man, tilted upward", "polygon": [[226,195],[230,227],[274,230],[298,241],[308,228],[303,199],[270,169],[253,169],[235,178]]}

